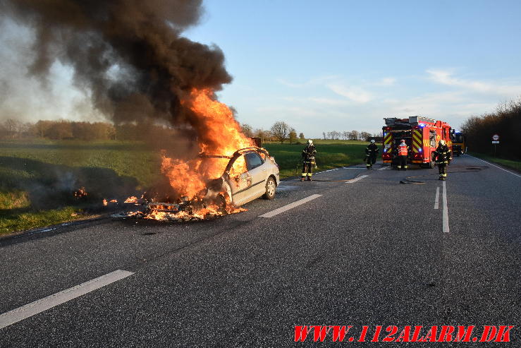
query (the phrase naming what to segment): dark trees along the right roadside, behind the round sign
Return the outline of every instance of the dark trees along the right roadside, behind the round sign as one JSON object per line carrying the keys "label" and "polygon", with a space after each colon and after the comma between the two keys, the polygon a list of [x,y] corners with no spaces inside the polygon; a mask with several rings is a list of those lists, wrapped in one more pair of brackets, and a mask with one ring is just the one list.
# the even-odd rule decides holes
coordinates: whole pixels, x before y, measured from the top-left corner
{"label": "dark trees along the right roadside, behind the round sign", "polygon": [[494,112],[471,116],[462,124],[461,130],[467,137],[470,151],[494,153],[492,136],[498,134],[497,154],[521,160],[519,145],[516,143],[521,131],[521,98],[499,104]]}

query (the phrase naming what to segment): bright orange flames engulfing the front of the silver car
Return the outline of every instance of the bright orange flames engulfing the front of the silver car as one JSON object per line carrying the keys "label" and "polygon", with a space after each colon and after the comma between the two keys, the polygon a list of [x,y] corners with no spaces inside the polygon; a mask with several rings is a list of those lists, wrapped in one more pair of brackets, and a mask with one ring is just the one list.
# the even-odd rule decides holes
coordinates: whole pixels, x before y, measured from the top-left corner
{"label": "bright orange flames engulfing the front of the silver car", "polygon": [[[150,208],[147,213],[133,212],[133,215],[154,220],[189,221],[244,211],[244,208],[235,208],[231,205],[231,199],[226,192],[216,195],[219,198],[212,195],[211,200],[202,198],[207,192],[207,182],[223,175],[233,153],[242,148],[255,146],[255,143],[243,134],[231,109],[214,100],[212,90],[193,89],[182,104],[196,115],[191,121],[192,127],[197,131],[200,153],[224,157],[202,156],[183,161],[167,157],[164,152],[161,173],[166,176],[169,184],[178,194],[176,204],[183,203],[183,208],[165,210],[165,207],[159,203],[157,208]],[[229,174],[234,178],[246,170],[245,160],[236,160]],[[220,203],[212,200],[220,200]],[[226,203],[223,203],[223,200]],[[125,203],[137,203],[137,198],[129,197]],[[190,208],[187,208],[188,206]],[[183,210],[184,208],[187,210]]]}

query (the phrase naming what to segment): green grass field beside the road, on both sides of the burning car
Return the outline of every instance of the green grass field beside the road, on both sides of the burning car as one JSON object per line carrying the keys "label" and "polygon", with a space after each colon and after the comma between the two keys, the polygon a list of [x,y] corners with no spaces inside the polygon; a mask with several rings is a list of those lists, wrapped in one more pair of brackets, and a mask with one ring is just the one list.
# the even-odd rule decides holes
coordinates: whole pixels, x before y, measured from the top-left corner
{"label": "green grass field beside the road, on both sides of the burning car", "polygon": [[[317,140],[318,170],[362,162],[365,142]],[[295,175],[305,145],[269,143],[281,177]],[[141,193],[159,179],[160,155],[137,142],[0,141],[0,235],[84,217],[103,198]],[[300,175],[300,167],[296,171]],[[74,191],[89,193],[76,198]]]}

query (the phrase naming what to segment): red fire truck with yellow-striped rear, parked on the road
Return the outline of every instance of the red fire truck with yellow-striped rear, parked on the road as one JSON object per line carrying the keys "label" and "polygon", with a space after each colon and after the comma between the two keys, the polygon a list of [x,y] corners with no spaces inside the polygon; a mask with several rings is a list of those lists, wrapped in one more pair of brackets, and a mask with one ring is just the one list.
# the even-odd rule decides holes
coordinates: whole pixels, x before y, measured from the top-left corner
{"label": "red fire truck with yellow-striped rear, parked on the road", "polygon": [[422,116],[410,116],[408,119],[386,118],[382,159],[391,166],[398,163],[397,147],[400,140],[410,148],[409,163],[419,164],[421,167],[434,168],[432,152],[436,150],[439,140],[445,140],[452,150],[454,131],[443,121],[436,121]]}

